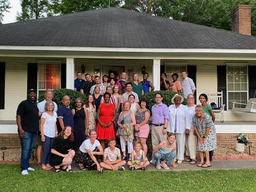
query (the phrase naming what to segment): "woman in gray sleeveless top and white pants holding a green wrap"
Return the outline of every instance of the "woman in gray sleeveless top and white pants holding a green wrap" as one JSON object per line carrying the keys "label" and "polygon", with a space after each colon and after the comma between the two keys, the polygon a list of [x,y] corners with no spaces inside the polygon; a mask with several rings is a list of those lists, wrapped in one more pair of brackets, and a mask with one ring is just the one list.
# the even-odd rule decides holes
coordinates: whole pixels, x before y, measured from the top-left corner
{"label": "woman in gray sleeveless top and white pants holding a green wrap", "polygon": [[[124,102],[123,104],[124,111],[122,111],[119,115],[117,124],[119,126],[117,132],[120,136],[120,143],[121,143],[121,150],[123,152],[122,160],[126,160],[126,153],[125,153],[125,139],[123,137],[123,129],[125,129],[124,125],[131,124],[132,126],[136,125],[136,119],[134,114],[130,111],[131,103],[129,101]],[[130,141],[129,137],[133,138],[133,130],[131,131],[131,135],[127,137],[127,148],[129,153],[129,161],[131,160],[131,152],[133,151],[133,142]]]}

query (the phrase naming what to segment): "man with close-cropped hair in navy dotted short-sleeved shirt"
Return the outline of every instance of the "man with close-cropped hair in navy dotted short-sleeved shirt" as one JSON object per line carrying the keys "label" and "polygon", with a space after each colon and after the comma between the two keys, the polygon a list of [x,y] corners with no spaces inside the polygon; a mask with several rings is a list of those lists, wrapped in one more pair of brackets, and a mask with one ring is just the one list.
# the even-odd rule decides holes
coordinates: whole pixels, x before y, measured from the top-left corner
{"label": "man with close-cropped hair in navy dotted short-sleeved shirt", "polygon": [[58,118],[58,133],[64,129],[66,126],[72,127],[74,130],[74,119],[73,119],[73,114],[71,112],[71,108],[69,107],[70,105],[70,98],[69,96],[64,96],[62,98],[62,105],[59,107],[57,110],[57,118]]}

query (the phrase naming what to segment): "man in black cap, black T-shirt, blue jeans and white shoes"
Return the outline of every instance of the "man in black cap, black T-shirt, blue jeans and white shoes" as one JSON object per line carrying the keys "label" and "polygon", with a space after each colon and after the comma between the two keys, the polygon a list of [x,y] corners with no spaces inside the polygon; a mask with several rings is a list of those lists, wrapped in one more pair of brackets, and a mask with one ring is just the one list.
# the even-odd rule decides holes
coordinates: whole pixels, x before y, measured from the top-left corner
{"label": "man in black cap, black T-shirt, blue jeans and white shoes", "polygon": [[28,99],[20,102],[16,112],[16,122],[21,144],[20,168],[21,174],[27,175],[28,170],[34,171],[29,166],[29,159],[38,131],[38,108],[35,102],[36,91],[28,90]]}

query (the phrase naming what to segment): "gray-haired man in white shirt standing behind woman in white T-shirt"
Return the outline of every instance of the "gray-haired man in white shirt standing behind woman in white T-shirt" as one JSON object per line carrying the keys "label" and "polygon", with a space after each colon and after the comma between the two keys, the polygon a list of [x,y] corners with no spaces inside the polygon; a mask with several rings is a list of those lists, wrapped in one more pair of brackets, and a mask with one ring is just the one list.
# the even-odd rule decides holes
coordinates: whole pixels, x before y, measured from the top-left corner
{"label": "gray-haired man in white shirt standing behind woman in white T-shirt", "polygon": [[[37,104],[37,108],[39,110],[38,112],[38,116],[39,116],[39,128],[38,128],[38,132],[37,132],[37,149],[36,149],[36,156],[37,156],[37,161],[38,161],[38,168],[40,168],[42,166],[41,164],[41,157],[42,157],[42,154],[43,154],[43,143],[41,141],[41,132],[40,132],[40,118],[41,118],[41,115],[42,113],[44,112],[44,106],[46,104],[47,101],[51,101],[52,98],[53,98],[53,91],[52,89],[46,89],[45,92],[44,92],[44,98],[45,100],[39,102]],[[57,104],[55,102],[54,103],[54,112],[57,113]]]}

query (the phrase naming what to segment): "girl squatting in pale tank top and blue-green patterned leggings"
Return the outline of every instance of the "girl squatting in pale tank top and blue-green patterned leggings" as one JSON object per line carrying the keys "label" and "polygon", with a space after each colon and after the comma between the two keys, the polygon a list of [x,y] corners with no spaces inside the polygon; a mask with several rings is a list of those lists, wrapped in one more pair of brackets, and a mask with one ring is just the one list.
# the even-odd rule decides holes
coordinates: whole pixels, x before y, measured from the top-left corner
{"label": "girl squatting in pale tank top and blue-green patterned leggings", "polygon": [[[156,168],[161,169],[161,166],[164,169],[170,169],[170,167],[167,166],[166,163],[169,165],[172,165],[172,167],[177,167],[174,163],[174,158],[176,157],[176,134],[170,133],[168,135],[167,141],[162,141],[154,150],[152,153],[154,153],[154,158],[156,160]],[[162,161],[160,163],[160,160]]]}

